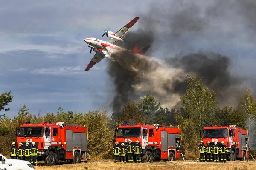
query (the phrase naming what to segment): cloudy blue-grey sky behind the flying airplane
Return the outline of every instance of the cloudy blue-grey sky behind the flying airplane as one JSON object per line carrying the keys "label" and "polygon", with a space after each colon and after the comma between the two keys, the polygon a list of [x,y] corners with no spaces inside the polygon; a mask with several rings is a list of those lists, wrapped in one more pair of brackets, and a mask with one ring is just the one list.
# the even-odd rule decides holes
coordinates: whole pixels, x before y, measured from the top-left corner
{"label": "cloudy blue-grey sky behind the flying airplane", "polygon": [[[115,32],[135,16],[140,20],[132,31],[144,27],[159,36],[151,47],[155,57],[174,57],[180,51],[215,51],[233,59],[233,74],[255,77],[255,3],[232,0],[215,1],[216,5],[198,0],[191,8],[190,2],[0,0],[0,93],[11,90],[14,96],[11,110],[1,113],[15,115],[23,104],[34,113],[39,109],[56,113],[59,106],[74,112],[107,107],[111,112],[114,91],[106,73],[108,60],[85,72],[94,54],[89,54],[84,38],[108,40],[101,37],[104,26]],[[194,32],[183,29],[184,11],[199,16],[200,22],[206,23],[204,28],[196,27],[199,31]],[[161,22],[166,13],[172,22]],[[155,23],[146,25],[147,17],[152,16]],[[194,22],[198,20],[192,20],[190,26]],[[188,32],[174,39],[169,28]]]}

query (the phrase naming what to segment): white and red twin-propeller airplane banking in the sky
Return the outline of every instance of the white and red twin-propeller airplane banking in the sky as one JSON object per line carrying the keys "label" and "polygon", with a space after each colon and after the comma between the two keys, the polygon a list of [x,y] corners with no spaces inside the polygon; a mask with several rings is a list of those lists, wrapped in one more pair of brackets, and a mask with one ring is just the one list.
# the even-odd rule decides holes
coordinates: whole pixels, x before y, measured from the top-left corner
{"label": "white and red twin-propeller airplane banking in the sky", "polygon": [[[91,59],[90,63],[87,65],[84,71],[90,70],[90,68],[92,68],[93,65],[95,65],[96,63],[99,63],[102,59],[104,59],[106,57],[105,54],[106,52],[108,52],[109,48],[126,50],[117,46],[116,44],[118,44],[118,42],[120,41],[124,42],[124,37],[128,34],[128,32],[131,30],[131,27],[137,22],[137,20],[139,20],[139,17],[135,17],[133,20],[131,20],[131,22],[129,22],[124,27],[119,29],[119,31],[117,31],[116,33],[108,31],[109,28],[108,30],[106,30],[105,28],[105,31],[102,37],[106,34],[107,37],[110,37],[108,41],[99,40],[97,38],[84,39],[84,41],[87,44],[89,44],[88,47],[91,48],[90,53],[92,52],[92,50],[96,52],[96,54],[93,56],[93,58]],[[134,50],[128,50],[128,51],[143,55],[148,50],[149,47],[150,45],[147,45],[142,50],[140,50],[139,45],[135,45]],[[110,57],[108,58],[111,59]]]}

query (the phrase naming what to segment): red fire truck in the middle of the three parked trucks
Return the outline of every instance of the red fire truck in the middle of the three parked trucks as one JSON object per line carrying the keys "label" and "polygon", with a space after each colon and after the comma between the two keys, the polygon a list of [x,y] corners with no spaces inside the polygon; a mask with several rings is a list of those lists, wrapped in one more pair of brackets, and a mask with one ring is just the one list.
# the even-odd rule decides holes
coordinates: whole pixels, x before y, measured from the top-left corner
{"label": "red fire truck in the middle of the three parked trucks", "polygon": [[[181,126],[180,126],[181,127]],[[142,146],[142,161],[152,162],[157,159],[174,161],[180,158],[181,128],[159,124],[119,126],[116,131],[116,142],[125,146],[128,140],[139,141]]]}

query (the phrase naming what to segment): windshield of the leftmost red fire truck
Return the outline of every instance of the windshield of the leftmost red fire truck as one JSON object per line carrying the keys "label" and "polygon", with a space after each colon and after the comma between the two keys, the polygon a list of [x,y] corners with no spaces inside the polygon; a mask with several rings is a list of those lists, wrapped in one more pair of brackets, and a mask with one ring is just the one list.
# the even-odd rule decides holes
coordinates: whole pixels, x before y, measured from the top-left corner
{"label": "windshield of the leftmost red fire truck", "polygon": [[18,137],[43,137],[44,127],[19,127]]}

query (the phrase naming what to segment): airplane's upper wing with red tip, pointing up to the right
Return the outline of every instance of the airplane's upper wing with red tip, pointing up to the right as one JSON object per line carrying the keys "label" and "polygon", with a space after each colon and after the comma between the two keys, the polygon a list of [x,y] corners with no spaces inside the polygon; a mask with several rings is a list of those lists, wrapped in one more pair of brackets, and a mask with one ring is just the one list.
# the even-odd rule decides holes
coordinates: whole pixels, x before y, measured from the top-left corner
{"label": "airplane's upper wing with red tip, pointing up to the right", "polygon": [[[116,34],[114,34],[114,36],[119,37],[121,39],[124,39],[124,37],[126,36],[126,34],[128,34],[128,32],[131,30],[131,27],[137,22],[137,20],[139,20],[139,17],[135,17],[133,20],[131,20],[130,23],[126,24],[123,28],[119,29],[119,31],[116,32]],[[112,43],[112,44],[117,44],[119,42],[119,40],[116,39],[109,39],[108,42]]]}

